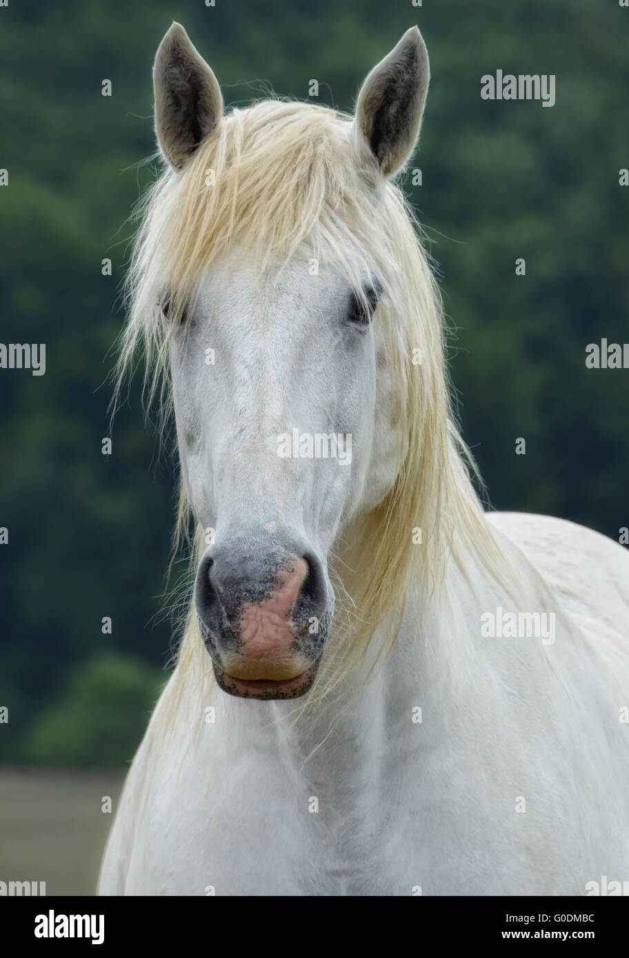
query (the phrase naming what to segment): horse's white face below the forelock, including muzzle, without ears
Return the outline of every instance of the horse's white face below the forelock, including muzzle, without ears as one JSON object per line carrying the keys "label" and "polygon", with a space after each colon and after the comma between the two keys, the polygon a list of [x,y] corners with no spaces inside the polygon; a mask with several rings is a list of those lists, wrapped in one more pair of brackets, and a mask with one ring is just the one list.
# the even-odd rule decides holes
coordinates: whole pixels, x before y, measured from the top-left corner
{"label": "horse's white face below the forelock, including muzzle, without ears", "polygon": [[330,547],[392,482],[390,437],[371,465],[381,289],[365,278],[362,292],[308,261],[264,282],[246,257],[228,277],[217,263],[172,340],[183,481],[214,531],[198,622],[232,695],[310,688],[334,611]]}

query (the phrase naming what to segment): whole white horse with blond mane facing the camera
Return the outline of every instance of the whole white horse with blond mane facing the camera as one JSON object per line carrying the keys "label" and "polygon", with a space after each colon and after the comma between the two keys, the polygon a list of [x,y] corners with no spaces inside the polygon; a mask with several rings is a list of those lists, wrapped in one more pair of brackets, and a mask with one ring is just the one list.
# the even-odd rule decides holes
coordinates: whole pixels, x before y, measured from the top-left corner
{"label": "whole white horse with blond mane facing the camera", "polygon": [[178,24],[153,77],[167,169],[122,364],[143,343],[174,401],[198,572],[100,894],[586,895],[629,878],[629,557],[478,503],[438,292],[391,182],[426,100],[421,35],[372,70],[354,117],[223,116]]}

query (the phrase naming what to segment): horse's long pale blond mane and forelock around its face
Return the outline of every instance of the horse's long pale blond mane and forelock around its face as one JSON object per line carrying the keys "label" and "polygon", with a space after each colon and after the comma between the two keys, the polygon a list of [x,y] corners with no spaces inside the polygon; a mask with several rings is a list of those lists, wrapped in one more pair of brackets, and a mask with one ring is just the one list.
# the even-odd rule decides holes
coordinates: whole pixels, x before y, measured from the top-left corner
{"label": "horse's long pale blond mane and forelock around its face", "polygon": [[[260,275],[304,255],[331,262],[357,290],[364,269],[384,285],[383,324],[405,437],[394,487],[341,530],[331,557],[338,594],[328,639],[326,687],[336,686],[385,625],[392,648],[411,588],[439,594],[454,559],[470,554],[508,589],[509,563],[470,480],[474,462],[454,426],[445,363],[444,317],[421,227],[395,183],[384,183],[360,148],[352,117],[327,107],[268,100],[233,109],[183,171],[164,171],[139,208],[128,271],[129,317],[117,392],[138,347],[149,399],[167,418],[171,332],[198,294],[208,266],[253,251]],[[159,306],[168,295],[169,317]],[[413,356],[421,351],[421,363]],[[189,508],[181,489],[177,528]],[[413,530],[421,529],[421,544]],[[417,537],[417,536],[415,536]],[[198,559],[204,548],[198,530]],[[325,659],[326,653],[324,653]],[[193,606],[177,672],[210,672]],[[308,696],[314,699],[317,682]],[[176,694],[175,694],[176,697]]]}

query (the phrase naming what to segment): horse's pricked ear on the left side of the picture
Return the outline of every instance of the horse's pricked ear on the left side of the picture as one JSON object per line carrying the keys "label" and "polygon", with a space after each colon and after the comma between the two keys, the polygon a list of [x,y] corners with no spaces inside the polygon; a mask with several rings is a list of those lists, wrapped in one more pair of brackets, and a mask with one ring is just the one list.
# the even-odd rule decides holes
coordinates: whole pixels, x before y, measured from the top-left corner
{"label": "horse's pricked ear on the left side of the picture", "polygon": [[218,129],[222,97],[214,73],[178,23],[159,44],[152,82],[157,142],[180,170],[199,143]]}

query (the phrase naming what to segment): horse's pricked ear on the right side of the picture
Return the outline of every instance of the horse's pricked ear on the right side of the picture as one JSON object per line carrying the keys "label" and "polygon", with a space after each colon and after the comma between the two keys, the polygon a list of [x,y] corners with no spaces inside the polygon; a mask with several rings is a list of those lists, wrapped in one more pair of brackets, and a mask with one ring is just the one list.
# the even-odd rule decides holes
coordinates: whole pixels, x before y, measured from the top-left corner
{"label": "horse's pricked ear on the right side of the picture", "polygon": [[355,122],[384,176],[398,171],[415,146],[430,80],[426,44],[411,27],[362,84]]}

